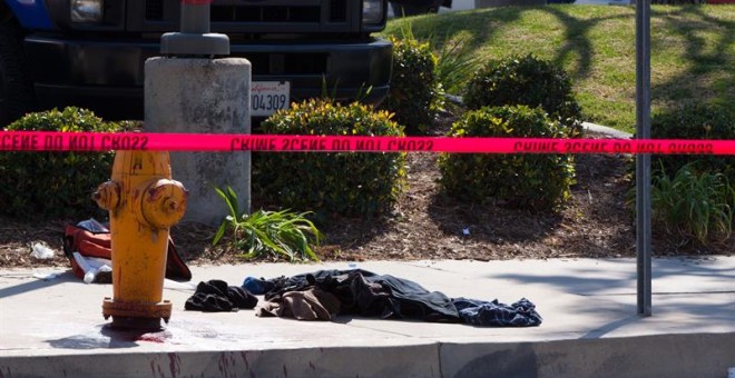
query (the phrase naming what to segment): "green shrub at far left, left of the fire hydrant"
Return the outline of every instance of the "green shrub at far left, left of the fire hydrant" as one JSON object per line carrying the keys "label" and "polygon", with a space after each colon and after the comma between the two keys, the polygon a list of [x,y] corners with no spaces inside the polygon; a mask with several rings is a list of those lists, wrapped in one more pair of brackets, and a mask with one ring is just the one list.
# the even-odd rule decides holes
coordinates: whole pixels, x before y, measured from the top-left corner
{"label": "green shrub at far left, left of the fire hydrant", "polygon": [[[66,108],[26,115],[8,131],[117,131],[91,111]],[[90,217],[104,211],[90,199],[111,173],[112,152],[0,153],[0,211],[18,218]]]}

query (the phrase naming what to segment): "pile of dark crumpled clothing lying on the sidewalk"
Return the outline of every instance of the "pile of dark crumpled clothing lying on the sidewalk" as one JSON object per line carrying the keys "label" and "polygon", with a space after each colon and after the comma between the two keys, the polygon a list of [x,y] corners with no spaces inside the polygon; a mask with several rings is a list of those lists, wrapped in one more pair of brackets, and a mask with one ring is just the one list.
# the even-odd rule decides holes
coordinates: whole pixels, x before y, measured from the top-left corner
{"label": "pile of dark crumpled clothing lying on the sidewalk", "polygon": [[[213,290],[213,286],[217,289]],[[362,269],[318,270],[273,279],[247,277],[242,287],[224,281],[200,282],[199,287],[202,290],[197,288],[186,309],[253,309],[257,306],[255,296],[264,296],[257,316],[298,320],[333,320],[345,315],[483,327],[532,327],[542,321],[536,306],[526,298],[512,305],[497,299],[449,298],[411,280]],[[216,306],[207,307],[208,304]]]}

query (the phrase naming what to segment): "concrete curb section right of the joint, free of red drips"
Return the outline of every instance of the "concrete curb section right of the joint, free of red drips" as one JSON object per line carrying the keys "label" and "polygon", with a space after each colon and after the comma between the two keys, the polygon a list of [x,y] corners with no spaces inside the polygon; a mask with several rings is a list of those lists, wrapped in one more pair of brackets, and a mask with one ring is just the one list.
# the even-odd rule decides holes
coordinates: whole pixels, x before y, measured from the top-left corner
{"label": "concrete curb section right of the joint, free of red drips", "polygon": [[735,334],[441,347],[442,377],[724,377]]}

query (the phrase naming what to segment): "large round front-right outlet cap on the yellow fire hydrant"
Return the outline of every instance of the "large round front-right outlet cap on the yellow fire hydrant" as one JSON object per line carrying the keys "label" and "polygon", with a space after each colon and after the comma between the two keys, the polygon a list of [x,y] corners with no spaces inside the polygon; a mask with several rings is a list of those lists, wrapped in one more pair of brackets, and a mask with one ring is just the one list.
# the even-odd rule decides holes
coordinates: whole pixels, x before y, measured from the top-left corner
{"label": "large round front-right outlet cap on the yellow fire hydrant", "polygon": [[184,217],[186,197],[187,191],[180,182],[157,180],[144,192],[143,217],[153,227],[169,228]]}

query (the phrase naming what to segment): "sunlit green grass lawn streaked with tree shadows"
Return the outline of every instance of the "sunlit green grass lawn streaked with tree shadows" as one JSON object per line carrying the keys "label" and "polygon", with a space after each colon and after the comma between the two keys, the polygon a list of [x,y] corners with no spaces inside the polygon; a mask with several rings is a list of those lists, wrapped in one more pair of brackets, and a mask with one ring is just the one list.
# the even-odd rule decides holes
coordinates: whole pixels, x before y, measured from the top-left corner
{"label": "sunlit green grass lawn streaked with tree shadows", "polygon": [[[654,6],[650,24],[651,111],[686,102],[735,111],[735,6]],[[459,43],[454,54],[480,64],[529,52],[551,60],[572,78],[587,121],[635,130],[635,7],[488,8],[391,20],[384,34],[406,30],[438,56]]]}

